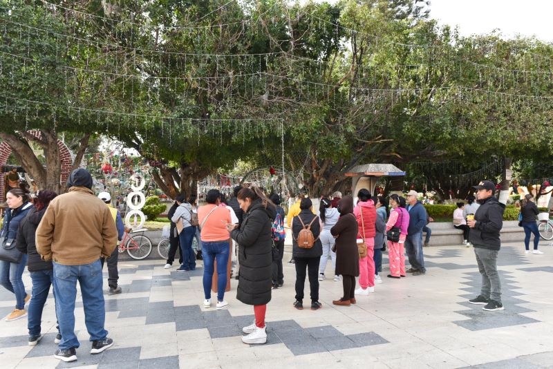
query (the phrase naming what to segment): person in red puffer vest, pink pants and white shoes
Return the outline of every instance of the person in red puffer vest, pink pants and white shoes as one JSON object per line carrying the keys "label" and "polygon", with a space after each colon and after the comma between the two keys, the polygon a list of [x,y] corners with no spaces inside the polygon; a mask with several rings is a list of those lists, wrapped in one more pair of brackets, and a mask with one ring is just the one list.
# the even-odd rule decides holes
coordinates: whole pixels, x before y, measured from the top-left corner
{"label": "person in red puffer vest, pink pants and white shoes", "polygon": [[367,189],[360,189],[357,193],[359,202],[353,209],[353,215],[357,218],[359,225],[359,234],[357,238],[362,238],[367,247],[367,254],[364,258],[359,258],[359,288],[355,290],[356,295],[368,295],[375,292],[375,223],[376,207],[371,200],[371,193]]}

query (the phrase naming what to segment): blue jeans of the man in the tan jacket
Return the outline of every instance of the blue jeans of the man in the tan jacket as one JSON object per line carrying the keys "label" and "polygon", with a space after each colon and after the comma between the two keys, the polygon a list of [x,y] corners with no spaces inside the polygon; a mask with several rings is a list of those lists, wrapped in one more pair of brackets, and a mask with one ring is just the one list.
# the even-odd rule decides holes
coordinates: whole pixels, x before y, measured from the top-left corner
{"label": "blue jeans of the man in the tan jacket", "polygon": [[59,348],[78,348],[79,341],[75,336],[75,297],[77,281],[81,286],[84,323],[91,335],[91,341],[105,339],[108,332],[104,330],[106,308],[102,292],[102,263],[100,259],[91,264],[62,265],[54,263],[54,294],[56,313],[59,319],[59,332],[62,342]]}

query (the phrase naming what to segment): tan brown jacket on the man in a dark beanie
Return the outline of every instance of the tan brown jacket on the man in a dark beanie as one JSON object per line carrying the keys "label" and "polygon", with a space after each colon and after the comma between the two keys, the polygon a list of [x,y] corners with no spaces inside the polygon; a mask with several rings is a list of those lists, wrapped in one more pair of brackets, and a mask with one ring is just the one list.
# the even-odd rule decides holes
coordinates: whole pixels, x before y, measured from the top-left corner
{"label": "tan brown jacket on the man in a dark beanie", "polygon": [[117,238],[117,228],[106,204],[91,189],[73,185],[68,193],[50,202],[37,228],[35,242],[44,261],[84,265],[101,256],[109,258],[117,246]]}

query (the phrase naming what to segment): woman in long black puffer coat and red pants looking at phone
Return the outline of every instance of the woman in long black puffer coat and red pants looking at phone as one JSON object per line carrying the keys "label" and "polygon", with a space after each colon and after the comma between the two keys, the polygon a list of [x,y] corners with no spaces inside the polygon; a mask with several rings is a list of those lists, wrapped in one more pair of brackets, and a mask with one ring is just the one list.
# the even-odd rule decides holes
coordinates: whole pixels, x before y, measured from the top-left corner
{"label": "woman in long black puffer coat and red pants looking at phone", "polygon": [[265,343],[265,311],[271,301],[272,236],[271,227],[277,216],[272,202],[258,187],[241,189],[238,203],[244,211],[240,229],[227,225],[230,236],[240,245],[238,249],[238,291],[236,299],[254,305],[255,321],[242,330],[247,333],[243,343]]}

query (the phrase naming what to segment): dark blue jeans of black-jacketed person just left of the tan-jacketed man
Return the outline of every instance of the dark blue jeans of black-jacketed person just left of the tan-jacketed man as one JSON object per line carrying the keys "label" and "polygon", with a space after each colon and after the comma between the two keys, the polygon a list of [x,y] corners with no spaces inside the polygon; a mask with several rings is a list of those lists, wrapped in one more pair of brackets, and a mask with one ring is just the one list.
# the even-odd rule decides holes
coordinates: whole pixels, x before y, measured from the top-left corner
{"label": "dark blue jeans of black-jacketed person just left of the tan-jacketed man", "polygon": [[30,272],[30,278],[32,279],[32,294],[29,302],[27,328],[29,336],[39,336],[42,310],[46,299],[48,299],[50,286],[54,283],[54,271],[53,269],[46,269]]}

